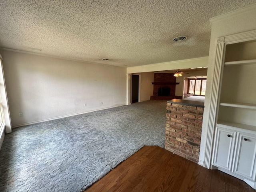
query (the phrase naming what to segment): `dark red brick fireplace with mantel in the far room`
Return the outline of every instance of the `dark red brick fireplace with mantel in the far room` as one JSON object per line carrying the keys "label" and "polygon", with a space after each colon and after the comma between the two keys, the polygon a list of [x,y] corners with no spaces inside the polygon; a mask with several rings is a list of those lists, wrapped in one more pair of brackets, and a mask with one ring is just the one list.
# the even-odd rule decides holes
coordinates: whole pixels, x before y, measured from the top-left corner
{"label": "dark red brick fireplace with mantel in the far room", "polygon": [[150,100],[171,100],[174,98],[180,99],[180,96],[175,96],[176,77],[170,73],[154,73],[153,96]]}

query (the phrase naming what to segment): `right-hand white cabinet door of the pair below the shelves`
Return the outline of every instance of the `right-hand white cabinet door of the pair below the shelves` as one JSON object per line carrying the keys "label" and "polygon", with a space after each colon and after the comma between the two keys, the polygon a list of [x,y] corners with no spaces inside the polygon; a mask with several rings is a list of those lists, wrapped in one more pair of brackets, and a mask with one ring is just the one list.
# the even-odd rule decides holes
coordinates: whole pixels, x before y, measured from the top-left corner
{"label": "right-hand white cabinet door of the pair below the shelves", "polygon": [[255,181],[256,136],[238,132],[233,172]]}

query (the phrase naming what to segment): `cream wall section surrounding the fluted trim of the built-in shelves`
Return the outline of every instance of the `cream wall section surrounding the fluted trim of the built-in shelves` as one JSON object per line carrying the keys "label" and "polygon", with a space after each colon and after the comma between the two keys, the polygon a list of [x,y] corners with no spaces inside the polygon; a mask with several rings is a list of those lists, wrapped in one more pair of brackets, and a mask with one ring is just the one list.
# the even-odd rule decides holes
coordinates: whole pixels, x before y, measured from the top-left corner
{"label": "cream wall section surrounding the fluted trim of the built-in shelves", "polygon": [[202,138],[200,146],[200,157],[199,161],[201,164],[204,162],[206,157],[206,141],[208,133],[208,123],[210,116],[210,98],[212,97],[213,88],[213,76],[214,76],[214,65],[215,65],[215,53],[216,53],[216,40],[219,37],[245,32],[248,30],[256,29],[256,4],[242,8],[240,10],[224,14],[211,19],[212,33],[210,40],[210,52],[209,52],[209,64],[207,72],[207,85],[206,85],[206,96],[204,101],[204,118],[202,126]]}

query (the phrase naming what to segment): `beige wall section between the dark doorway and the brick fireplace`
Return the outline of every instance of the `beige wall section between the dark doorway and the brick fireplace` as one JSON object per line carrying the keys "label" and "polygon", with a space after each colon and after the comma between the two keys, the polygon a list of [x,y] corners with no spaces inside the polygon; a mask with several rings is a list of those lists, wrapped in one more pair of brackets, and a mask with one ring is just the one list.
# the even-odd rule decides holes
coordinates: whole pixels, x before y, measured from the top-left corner
{"label": "beige wall section between the dark doorway and the brick fireplace", "polygon": [[136,73],[140,75],[140,102],[150,100],[153,95],[154,72]]}

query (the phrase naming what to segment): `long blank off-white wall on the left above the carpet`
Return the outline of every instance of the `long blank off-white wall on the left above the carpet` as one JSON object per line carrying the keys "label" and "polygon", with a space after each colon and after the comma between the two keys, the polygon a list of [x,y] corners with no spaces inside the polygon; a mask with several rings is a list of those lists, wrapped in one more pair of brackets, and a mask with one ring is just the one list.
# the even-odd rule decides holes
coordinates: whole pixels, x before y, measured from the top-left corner
{"label": "long blank off-white wall on the left above the carpet", "polygon": [[126,68],[0,53],[12,126],[126,104]]}

